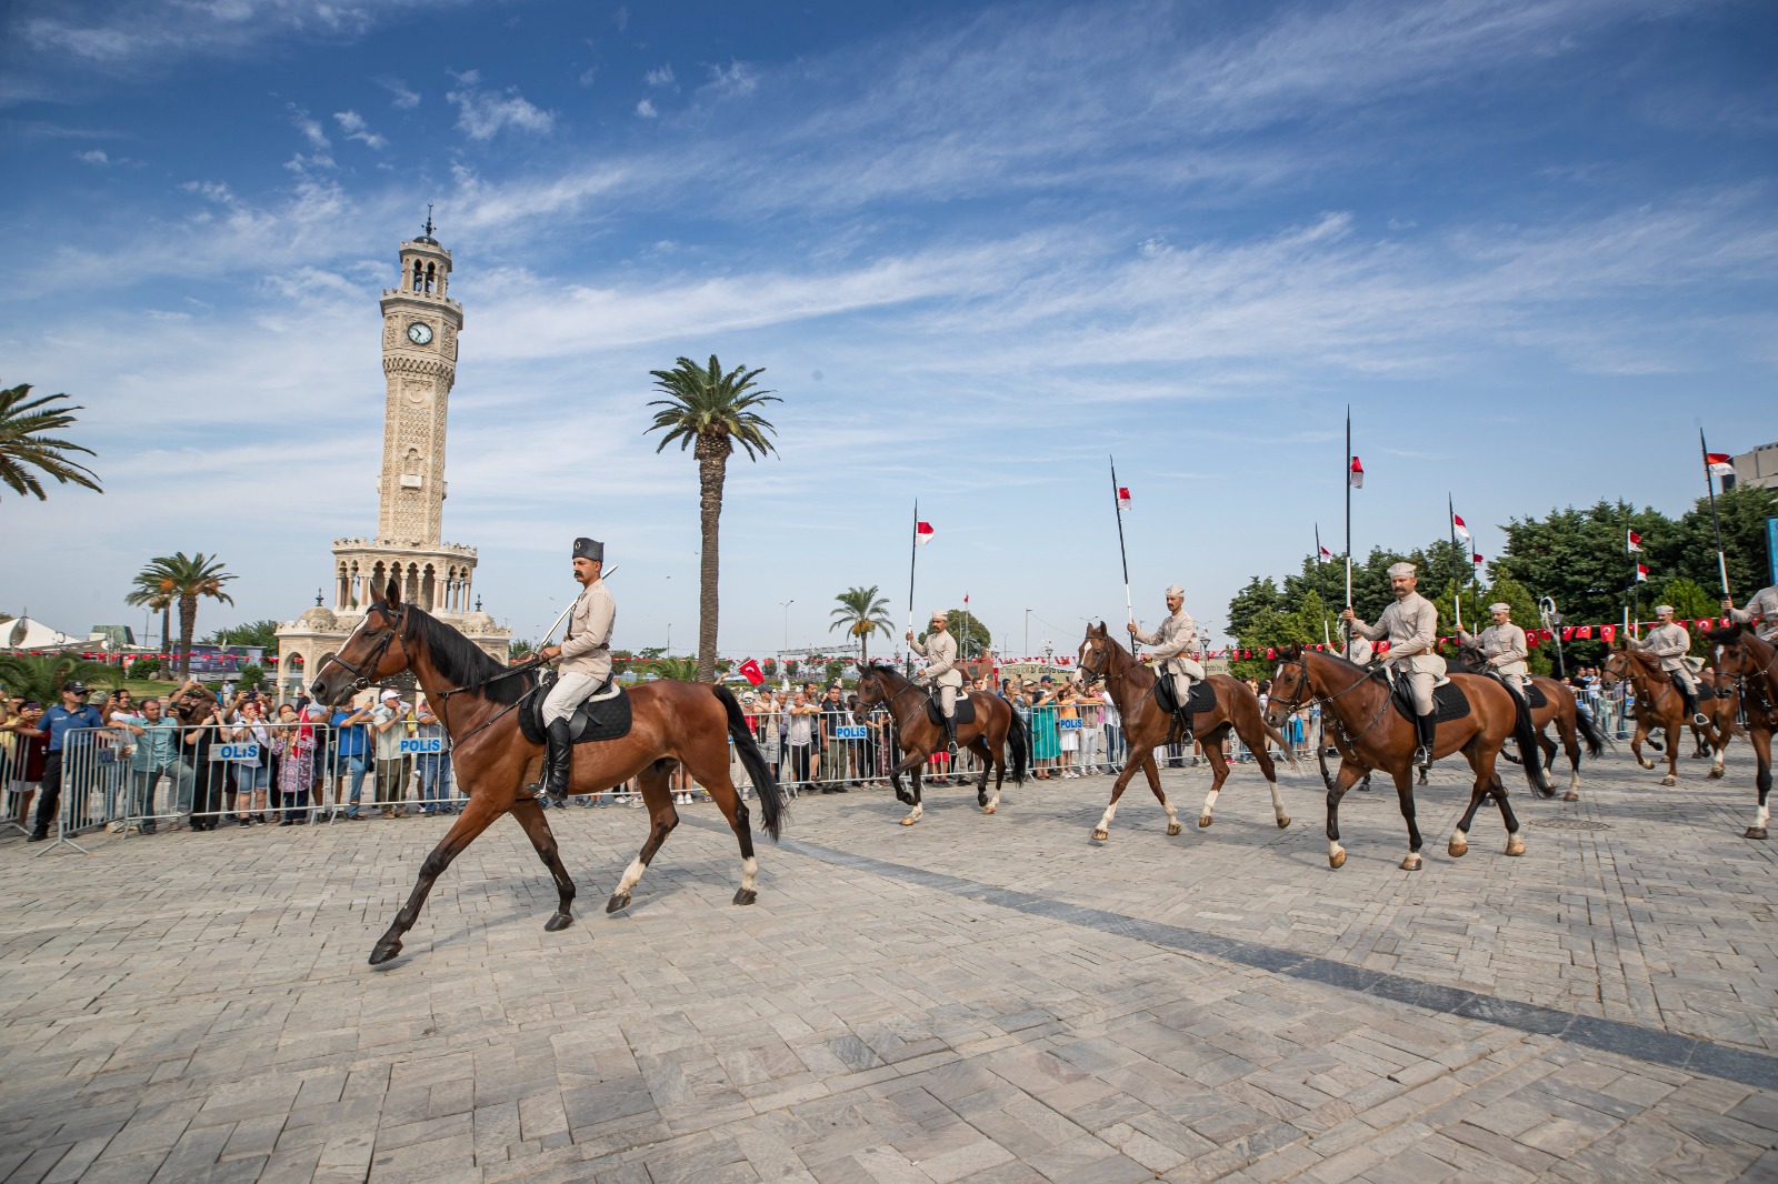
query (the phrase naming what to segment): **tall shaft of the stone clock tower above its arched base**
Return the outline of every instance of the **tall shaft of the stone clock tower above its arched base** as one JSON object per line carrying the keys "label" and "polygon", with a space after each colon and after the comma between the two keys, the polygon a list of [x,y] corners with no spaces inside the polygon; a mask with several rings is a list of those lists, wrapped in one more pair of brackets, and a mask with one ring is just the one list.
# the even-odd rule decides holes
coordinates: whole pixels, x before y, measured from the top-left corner
{"label": "tall shaft of the stone clock tower above its arched base", "polygon": [[377,537],[437,546],[444,516],[444,411],[457,380],[462,306],[450,299],[450,251],[427,229],[402,244],[400,283],[382,293],[382,478]]}

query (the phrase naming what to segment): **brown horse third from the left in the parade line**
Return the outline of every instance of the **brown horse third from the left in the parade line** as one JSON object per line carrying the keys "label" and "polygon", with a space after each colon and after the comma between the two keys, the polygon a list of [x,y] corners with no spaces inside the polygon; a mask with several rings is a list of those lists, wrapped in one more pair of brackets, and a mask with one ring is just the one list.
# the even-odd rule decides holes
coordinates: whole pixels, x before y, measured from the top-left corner
{"label": "brown horse third from the left in the parade line", "polygon": [[[1124,644],[1106,631],[1106,622],[1102,620],[1097,626],[1086,626],[1086,638],[1081,642],[1076,668],[1081,672],[1081,681],[1086,686],[1104,679],[1106,690],[1111,693],[1111,702],[1117,704],[1118,716],[1124,722],[1124,740],[1129,741],[1129,759],[1124,761],[1117,782],[1111,784],[1111,800],[1106,804],[1106,812],[1099,820],[1099,825],[1093,827],[1093,839],[1104,843],[1111,837],[1111,818],[1117,814],[1117,800],[1124,796],[1124,788],[1129,786],[1136,770],[1147,775],[1149,789],[1154,791],[1154,796],[1161,802],[1161,809],[1166,811],[1166,834],[1179,834],[1179,814],[1173,812],[1173,805],[1161,793],[1161,772],[1154,763],[1154,750],[1166,743],[1166,734],[1173,720],[1154,699],[1154,672],[1136,661],[1124,649]],[[1266,725],[1264,716],[1259,713],[1259,697],[1239,679],[1232,679],[1227,674],[1213,674],[1205,683],[1216,692],[1216,706],[1191,716],[1191,732],[1202,743],[1204,756],[1211,763],[1211,791],[1204,796],[1204,812],[1198,814],[1198,825],[1211,825],[1216,795],[1221,793],[1223,782],[1229,780],[1229,759],[1223,757],[1221,747],[1229,732],[1234,731],[1248,752],[1253,754],[1259,772],[1266,775],[1266,784],[1271,786],[1273,818],[1277,818],[1280,828],[1289,827],[1291,816],[1284,811],[1284,796],[1278,793],[1278,766],[1266,748],[1268,740],[1275,741],[1284,750],[1284,757],[1291,763],[1291,768],[1296,770],[1296,754],[1291,752],[1289,741],[1277,729]]]}

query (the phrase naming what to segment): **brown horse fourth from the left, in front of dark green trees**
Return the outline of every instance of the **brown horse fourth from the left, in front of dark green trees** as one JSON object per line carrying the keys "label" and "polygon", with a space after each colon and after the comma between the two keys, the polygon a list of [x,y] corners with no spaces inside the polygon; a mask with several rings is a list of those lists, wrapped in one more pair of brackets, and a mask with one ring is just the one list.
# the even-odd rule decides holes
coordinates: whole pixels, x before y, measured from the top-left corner
{"label": "brown horse fourth from the left, in front of dark green trees", "polygon": [[[1506,853],[1524,855],[1526,843],[1518,836],[1518,818],[1506,800],[1506,786],[1494,772],[1494,761],[1506,738],[1515,736],[1526,780],[1547,798],[1556,795],[1538,759],[1531,716],[1522,713],[1513,693],[1494,679],[1453,674],[1451,681],[1469,697],[1469,715],[1446,720],[1433,729],[1433,757],[1462,750],[1476,772],[1469,809],[1451,834],[1451,855],[1462,857],[1469,852],[1469,828],[1476,821],[1476,811],[1490,796],[1501,807],[1501,820],[1506,823]],[[1328,788],[1328,864],[1334,868],[1346,862],[1346,848],[1339,844],[1339,802],[1353,782],[1364,777],[1366,768],[1382,770],[1396,779],[1401,818],[1408,823],[1408,855],[1401,860],[1401,868],[1403,871],[1421,868],[1421,828],[1414,820],[1414,724],[1390,706],[1392,693],[1382,674],[1373,676],[1344,658],[1301,645],[1280,654],[1278,670],[1271,677],[1271,700],[1266,704],[1269,724],[1278,724],[1310,699],[1319,699],[1321,720],[1328,724],[1330,732],[1337,731],[1342,738],[1339,777]]]}

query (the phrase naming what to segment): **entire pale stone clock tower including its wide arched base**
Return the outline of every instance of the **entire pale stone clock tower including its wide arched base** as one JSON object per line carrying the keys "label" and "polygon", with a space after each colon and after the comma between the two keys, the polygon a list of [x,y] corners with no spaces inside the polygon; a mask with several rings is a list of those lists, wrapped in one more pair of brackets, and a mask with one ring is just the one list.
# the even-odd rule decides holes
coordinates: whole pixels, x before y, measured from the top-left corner
{"label": "entire pale stone clock tower including its wide arched base", "polygon": [[[295,676],[313,677],[357,628],[364,606],[389,580],[402,597],[455,626],[489,656],[507,660],[510,629],[471,599],[475,548],[444,542],[444,420],[457,382],[462,306],[450,299],[450,251],[425,231],[404,242],[395,288],[382,292],[382,471],[377,478],[377,535],[334,539],[332,597],[325,592],[300,619],[277,629],[279,692]],[[300,672],[293,658],[302,658]]]}

